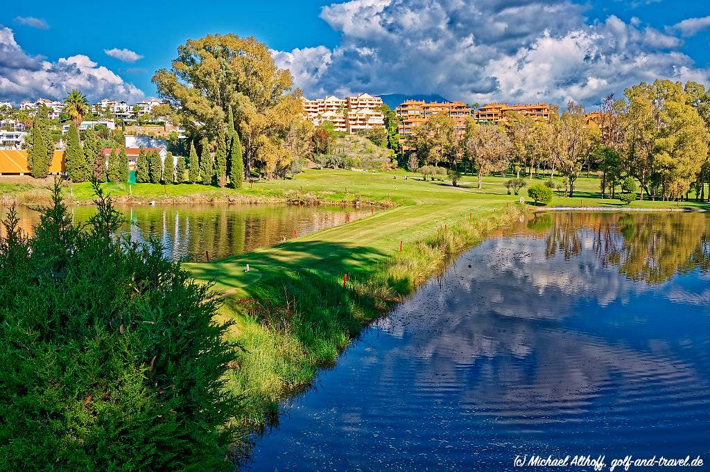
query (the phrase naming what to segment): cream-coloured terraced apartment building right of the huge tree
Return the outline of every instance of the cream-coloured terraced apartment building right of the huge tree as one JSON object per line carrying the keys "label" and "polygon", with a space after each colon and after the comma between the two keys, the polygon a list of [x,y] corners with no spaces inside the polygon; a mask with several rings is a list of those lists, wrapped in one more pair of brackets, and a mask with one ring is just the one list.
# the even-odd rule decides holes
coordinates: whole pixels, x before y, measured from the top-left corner
{"label": "cream-coloured terraced apartment building right of the huge tree", "polygon": [[383,128],[385,117],[380,111],[381,106],[382,99],[370,94],[359,94],[345,99],[334,95],[324,99],[303,99],[305,115],[315,126],[330,121],[334,131],[350,134]]}

